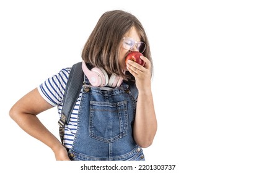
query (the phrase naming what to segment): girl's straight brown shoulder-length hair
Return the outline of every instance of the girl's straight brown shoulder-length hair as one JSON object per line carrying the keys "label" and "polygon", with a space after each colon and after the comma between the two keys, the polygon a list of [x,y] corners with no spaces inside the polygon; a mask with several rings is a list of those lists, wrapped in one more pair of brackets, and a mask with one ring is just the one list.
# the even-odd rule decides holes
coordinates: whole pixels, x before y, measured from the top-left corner
{"label": "girl's straight brown shoulder-length hair", "polygon": [[105,12],[100,17],[82,50],[84,62],[94,67],[102,67],[108,74],[120,75],[125,80],[133,78],[130,73],[124,75],[118,63],[123,35],[132,27],[136,28],[141,41],[146,43],[143,55],[152,65],[148,37],[141,22],[131,13],[120,10]]}

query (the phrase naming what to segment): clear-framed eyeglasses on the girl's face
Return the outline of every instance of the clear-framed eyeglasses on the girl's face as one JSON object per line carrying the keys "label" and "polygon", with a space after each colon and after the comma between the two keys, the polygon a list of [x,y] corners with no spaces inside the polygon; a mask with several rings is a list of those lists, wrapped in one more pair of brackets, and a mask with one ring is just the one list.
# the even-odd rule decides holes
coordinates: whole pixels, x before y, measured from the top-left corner
{"label": "clear-framed eyeglasses on the girl's face", "polygon": [[137,42],[129,37],[123,38],[123,48],[131,50],[134,48],[134,46],[139,50],[140,53],[143,53],[146,49],[146,44],[142,41]]}

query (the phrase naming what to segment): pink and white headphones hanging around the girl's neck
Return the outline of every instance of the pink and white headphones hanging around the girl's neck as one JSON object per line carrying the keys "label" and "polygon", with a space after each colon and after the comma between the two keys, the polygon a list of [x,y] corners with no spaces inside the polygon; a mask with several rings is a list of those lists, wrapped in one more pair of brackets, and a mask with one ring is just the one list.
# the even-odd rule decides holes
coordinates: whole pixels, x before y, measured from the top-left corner
{"label": "pink and white headphones hanging around the girl's neck", "polygon": [[82,61],[82,70],[84,71],[84,74],[88,78],[90,84],[95,87],[102,87],[106,85],[111,87],[119,87],[123,82],[123,78],[118,77],[116,74],[112,74],[108,80],[107,72],[100,67],[94,67],[89,70],[84,61]]}

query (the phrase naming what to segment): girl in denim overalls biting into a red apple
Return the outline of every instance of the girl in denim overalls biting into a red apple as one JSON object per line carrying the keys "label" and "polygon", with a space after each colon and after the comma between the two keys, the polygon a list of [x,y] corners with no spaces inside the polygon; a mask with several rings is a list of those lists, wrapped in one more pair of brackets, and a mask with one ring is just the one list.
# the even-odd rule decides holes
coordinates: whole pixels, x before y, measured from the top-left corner
{"label": "girl in denim overalls biting into a red apple", "polygon": [[[143,53],[145,65],[125,63],[130,51]],[[61,117],[71,68],[62,69],[19,99],[9,112],[11,118],[49,146],[56,160],[144,160],[141,148],[152,144],[157,120],[151,53],[139,20],[124,11],[105,12],[84,46],[81,66],[84,85],[64,127],[63,143],[37,114],[57,106]],[[131,87],[136,88],[136,95]]]}

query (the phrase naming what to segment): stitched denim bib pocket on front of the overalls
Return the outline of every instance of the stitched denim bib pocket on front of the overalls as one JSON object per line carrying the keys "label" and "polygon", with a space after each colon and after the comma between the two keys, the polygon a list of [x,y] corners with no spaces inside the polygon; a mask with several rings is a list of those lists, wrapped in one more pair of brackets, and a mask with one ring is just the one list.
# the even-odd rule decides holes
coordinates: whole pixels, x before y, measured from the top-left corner
{"label": "stitched denim bib pocket on front of the overalls", "polygon": [[89,135],[106,143],[124,137],[128,128],[127,102],[90,101]]}

